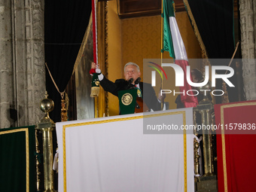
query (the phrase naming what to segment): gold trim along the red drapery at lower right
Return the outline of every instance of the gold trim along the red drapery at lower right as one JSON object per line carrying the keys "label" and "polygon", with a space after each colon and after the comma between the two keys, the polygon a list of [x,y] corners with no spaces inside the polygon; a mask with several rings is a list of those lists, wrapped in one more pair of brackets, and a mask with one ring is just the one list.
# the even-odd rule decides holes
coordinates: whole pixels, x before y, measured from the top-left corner
{"label": "gold trim along the red drapery at lower right", "polygon": [[[242,107],[248,105],[256,105],[256,102],[242,102],[230,105],[221,105],[221,125],[224,125],[224,108]],[[221,130],[222,143],[222,159],[223,159],[223,173],[224,173],[224,191],[227,192],[227,161],[226,161],[226,144],[225,144],[225,130]]]}

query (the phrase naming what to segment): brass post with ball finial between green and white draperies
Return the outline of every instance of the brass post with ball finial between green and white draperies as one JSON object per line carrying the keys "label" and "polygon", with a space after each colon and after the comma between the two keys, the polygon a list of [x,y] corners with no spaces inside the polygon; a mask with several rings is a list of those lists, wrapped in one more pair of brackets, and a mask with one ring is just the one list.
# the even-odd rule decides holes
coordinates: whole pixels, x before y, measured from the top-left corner
{"label": "brass post with ball finial between green and white draperies", "polygon": [[48,94],[45,93],[45,98],[41,100],[41,111],[44,111],[44,117],[38,123],[38,130],[42,133],[43,139],[43,156],[44,156],[44,191],[53,192],[53,130],[55,124],[49,117],[49,112],[53,110],[53,100],[47,98]]}

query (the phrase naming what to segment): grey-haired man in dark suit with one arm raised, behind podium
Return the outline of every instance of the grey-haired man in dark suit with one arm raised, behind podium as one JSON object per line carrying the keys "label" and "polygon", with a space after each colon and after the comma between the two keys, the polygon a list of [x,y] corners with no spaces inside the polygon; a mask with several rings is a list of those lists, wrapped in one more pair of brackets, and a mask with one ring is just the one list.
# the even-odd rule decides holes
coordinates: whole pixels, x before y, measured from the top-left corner
{"label": "grey-haired man in dark suit with one arm raised, behind podium", "polygon": [[161,109],[160,101],[164,99],[165,95],[159,96],[157,99],[154,88],[151,84],[140,82],[141,72],[139,66],[134,62],[128,62],[124,66],[124,78],[117,79],[115,82],[109,81],[102,75],[99,66],[95,62],[92,62],[92,69],[96,69],[98,73],[99,84],[105,91],[112,93],[114,96],[118,96],[118,91],[128,90],[131,87],[136,87],[142,90],[142,98],[149,110],[159,111]]}

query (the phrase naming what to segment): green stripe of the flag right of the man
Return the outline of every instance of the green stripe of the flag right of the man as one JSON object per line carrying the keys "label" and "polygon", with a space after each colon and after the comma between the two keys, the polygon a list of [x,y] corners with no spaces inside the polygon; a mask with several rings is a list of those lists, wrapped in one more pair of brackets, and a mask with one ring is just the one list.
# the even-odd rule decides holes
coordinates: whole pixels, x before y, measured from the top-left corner
{"label": "green stripe of the flag right of the man", "polygon": [[174,3],[171,0],[163,0],[163,50],[169,51],[169,56],[175,59],[175,53],[172,44],[172,34],[169,26],[169,17],[175,17],[174,9],[172,6]]}

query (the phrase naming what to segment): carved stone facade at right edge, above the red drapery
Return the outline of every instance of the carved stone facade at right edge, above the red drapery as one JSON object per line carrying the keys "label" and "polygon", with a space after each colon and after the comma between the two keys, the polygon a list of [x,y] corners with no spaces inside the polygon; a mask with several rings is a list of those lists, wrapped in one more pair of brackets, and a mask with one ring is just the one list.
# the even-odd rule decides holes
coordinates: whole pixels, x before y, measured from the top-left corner
{"label": "carved stone facade at right edge, above the red drapery", "polygon": [[239,0],[245,99],[256,99],[256,2]]}

